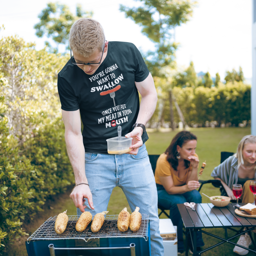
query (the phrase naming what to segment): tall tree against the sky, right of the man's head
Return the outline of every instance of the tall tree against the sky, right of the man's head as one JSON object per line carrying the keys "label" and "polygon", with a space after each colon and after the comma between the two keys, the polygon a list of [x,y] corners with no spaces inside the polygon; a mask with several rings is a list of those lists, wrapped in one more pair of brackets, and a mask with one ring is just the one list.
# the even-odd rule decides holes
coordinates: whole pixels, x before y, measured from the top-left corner
{"label": "tall tree against the sky, right of the man's head", "polygon": [[[155,43],[155,51],[147,52],[144,56],[145,63],[153,76],[165,77],[160,72],[163,67],[173,67],[175,60],[175,51],[178,44],[173,40],[173,31],[175,26],[186,23],[192,16],[192,8],[195,5],[193,0],[140,0],[141,7],[129,8],[121,5],[120,10],[125,12],[126,17],[142,27],[142,33]],[[165,79],[165,82],[167,80]],[[162,81],[164,82],[164,81]],[[170,112],[172,113],[172,84],[163,86],[167,90],[170,100]],[[163,90],[162,90],[163,91]],[[165,98],[167,100],[167,98]],[[163,102],[163,105],[165,102]],[[180,116],[182,120],[182,116]],[[171,118],[172,128],[174,129],[173,119]],[[185,123],[184,123],[185,127]]]}

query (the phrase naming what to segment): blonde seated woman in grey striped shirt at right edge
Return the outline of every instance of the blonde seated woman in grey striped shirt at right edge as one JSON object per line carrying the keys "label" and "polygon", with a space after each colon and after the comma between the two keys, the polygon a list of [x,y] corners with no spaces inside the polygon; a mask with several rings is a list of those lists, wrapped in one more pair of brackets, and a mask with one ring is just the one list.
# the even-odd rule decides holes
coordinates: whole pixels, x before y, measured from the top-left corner
{"label": "blonde seated woman in grey striped shirt at right edge", "polygon": [[[252,203],[254,200],[250,190],[250,180],[256,179],[256,136],[247,135],[242,138],[237,147],[237,153],[227,158],[223,163],[214,168],[211,176],[220,180],[223,188],[221,195],[228,196],[231,200],[236,198],[232,192],[233,184],[241,184],[243,192],[240,197],[243,203]],[[252,243],[248,233],[241,235],[238,244],[249,247]],[[235,246],[233,252],[245,255],[249,251]]]}

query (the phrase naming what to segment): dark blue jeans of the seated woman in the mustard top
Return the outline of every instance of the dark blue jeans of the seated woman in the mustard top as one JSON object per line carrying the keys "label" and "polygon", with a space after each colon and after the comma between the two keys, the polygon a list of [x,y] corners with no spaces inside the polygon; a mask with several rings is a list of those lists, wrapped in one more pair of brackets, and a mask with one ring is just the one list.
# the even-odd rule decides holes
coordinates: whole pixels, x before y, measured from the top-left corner
{"label": "dark blue jeans of the seated woman in the mustard top", "polygon": [[[197,190],[192,190],[184,194],[169,195],[162,185],[157,185],[158,204],[162,205],[166,209],[170,209],[170,219],[174,226],[177,226],[177,237],[178,237],[178,251],[184,251],[183,244],[183,222],[180,216],[177,204],[183,204],[185,202],[201,203],[202,198]],[[193,232],[192,232],[193,234]],[[191,242],[191,240],[189,239]],[[197,232],[197,246],[204,246],[202,239],[202,233]]]}

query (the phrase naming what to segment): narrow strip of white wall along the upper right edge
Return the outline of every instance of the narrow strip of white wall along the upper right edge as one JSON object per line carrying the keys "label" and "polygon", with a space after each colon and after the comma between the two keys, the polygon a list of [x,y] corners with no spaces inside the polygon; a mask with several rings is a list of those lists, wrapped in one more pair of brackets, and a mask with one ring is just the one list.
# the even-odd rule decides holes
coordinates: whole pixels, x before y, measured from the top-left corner
{"label": "narrow strip of white wall along the upper right edge", "polygon": [[252,0],[251,134],[256,135],[256,0]]}

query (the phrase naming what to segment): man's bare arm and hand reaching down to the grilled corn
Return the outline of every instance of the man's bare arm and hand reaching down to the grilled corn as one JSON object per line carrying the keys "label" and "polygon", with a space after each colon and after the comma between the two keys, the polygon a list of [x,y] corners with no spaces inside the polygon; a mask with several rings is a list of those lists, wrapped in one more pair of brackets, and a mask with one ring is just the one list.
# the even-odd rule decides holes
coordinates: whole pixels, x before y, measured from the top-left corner
{"label": "man's bare arm and hand reaching down to the grilled corn", "polygon": [[[84,166],[84,146],[83,136],[81,134],[81,120],[80,111],[65,111],[62,110],[62,118],[65,125],[65,141],[67,146],[68,157],[73,168],[75,182],[88,183],[85,166]],[[84,212],[83,206],[85,199],[88,199],[88,203],[92,209],[92,194],[88,185],[82,184],[73,189],[70,194],[70,198],[73,200],[74,205]]]}

